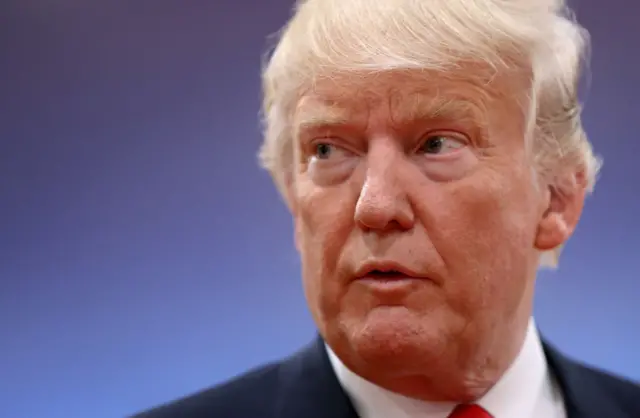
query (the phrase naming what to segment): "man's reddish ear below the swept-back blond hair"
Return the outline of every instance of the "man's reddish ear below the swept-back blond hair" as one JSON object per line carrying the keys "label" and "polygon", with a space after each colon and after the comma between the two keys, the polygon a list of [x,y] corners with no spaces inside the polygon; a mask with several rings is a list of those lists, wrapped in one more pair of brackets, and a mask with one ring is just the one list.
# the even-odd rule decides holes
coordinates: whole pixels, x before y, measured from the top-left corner
{"label": "man's reddish ear below the swept-back blond hair", "polygon": [[535,240],[535,247],[540,251],[561,246],[573,234],[582,215],[586,196],[584,173],[568,176],[561,187],[547,185],[545,195],[545,209]]}

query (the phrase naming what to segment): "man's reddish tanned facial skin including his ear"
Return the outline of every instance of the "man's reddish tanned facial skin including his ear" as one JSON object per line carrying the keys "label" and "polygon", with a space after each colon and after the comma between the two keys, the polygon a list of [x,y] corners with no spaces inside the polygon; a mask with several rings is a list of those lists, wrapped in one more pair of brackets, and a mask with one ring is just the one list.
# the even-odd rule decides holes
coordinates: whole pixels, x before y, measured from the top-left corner
{"label": "man's reddish tanned facial skin including his ear", "polygon": [[[520,350],[539,251],[566,241],[584,200],[580,181],[559,196],[534,175],[526,87],[389,73],[320,81],[298,103],[289,204],[305,294],[365,379],[469,401]],[[359,279],[367,263],[414,278]]]}

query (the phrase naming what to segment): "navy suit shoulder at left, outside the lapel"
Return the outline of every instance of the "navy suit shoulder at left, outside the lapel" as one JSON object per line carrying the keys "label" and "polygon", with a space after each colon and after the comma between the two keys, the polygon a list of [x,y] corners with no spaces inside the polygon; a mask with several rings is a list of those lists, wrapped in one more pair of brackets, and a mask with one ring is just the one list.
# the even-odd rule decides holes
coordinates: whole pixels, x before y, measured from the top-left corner
{"label": "navy suit shoulder at left, outside the lapel", "polygon": [[[215,416],[264,416],[273,410],[280,363],[266,364],[226,382],[131,418],[200,418]],[[265,417],[266,418],[266,417]]]}

